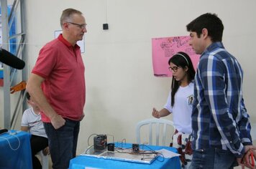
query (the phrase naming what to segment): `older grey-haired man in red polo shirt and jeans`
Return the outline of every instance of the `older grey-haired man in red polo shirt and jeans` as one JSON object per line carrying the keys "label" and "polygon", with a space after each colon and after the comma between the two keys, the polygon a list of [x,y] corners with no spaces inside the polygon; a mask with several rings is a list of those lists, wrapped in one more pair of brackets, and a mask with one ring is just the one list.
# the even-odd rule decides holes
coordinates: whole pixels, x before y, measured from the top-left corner
{"label": "older grey-haired man in red polo shirt and jeans", "polygon": [[81,11],[65,9],[60,17],[63,34],[45,44],[27,82],[27,91],[42,112],[49,139],[52,168],[68,168],[76,156],[86,84],[80,47],[86,19]]}

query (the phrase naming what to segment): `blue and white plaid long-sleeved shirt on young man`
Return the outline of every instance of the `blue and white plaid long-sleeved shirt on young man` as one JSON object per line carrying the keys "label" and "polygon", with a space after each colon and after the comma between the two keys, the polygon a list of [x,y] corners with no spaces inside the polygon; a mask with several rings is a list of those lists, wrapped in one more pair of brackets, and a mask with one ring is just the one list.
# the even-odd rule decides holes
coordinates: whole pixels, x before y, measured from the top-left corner
{"label": "blue and white plaid long-sleeved shirt on young man", "polygon": [[192,112],[194,150],[219,148],[240,158],[244,145],[252,145],[242,79],[239,62],[221,42],[214,42],[201,54]]}

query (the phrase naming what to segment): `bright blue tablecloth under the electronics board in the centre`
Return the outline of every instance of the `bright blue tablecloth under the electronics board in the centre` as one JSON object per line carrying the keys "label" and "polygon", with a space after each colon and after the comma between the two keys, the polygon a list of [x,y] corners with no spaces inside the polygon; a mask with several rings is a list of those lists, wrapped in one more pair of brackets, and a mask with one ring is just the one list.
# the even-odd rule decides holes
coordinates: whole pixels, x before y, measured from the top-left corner
{"label": "bright blue tablecloth under the electronics board in the centre", "polygon": [[[118,147],[120,147],[120,143],[116,143]],[[115,145],[116,145],[115,144]],[[161,150],[166,149],[170,150],[174,153],[178,153],[175,148],[163,147],[163,146],[154,146],[147,145],[152,150]],[[132,144],[126,143],[123,144],[123,148],[132,148]],[[146,146],[144,146],[144,150],[150,150]],[[180,168],[180,160],[178,157],[175,158],[159,158],[159,160],[154,160],[151,164],[143,164],[143,163],[133,163],[127,161],[120,160],[109,160],[103,158],[93,158],[88,156],[79,155],[76,158],[70,160],[69,169],[85,169],[85,168],[104,168],[104,169],[114,169],[114,168],[122,168],[122,169],[175,169]]]}

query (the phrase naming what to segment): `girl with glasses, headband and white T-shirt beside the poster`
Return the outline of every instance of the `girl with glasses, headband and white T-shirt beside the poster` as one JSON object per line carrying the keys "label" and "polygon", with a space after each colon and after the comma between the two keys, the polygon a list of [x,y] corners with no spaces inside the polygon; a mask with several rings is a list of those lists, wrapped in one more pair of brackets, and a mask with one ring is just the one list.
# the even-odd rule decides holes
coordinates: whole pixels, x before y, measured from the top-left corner
{"label": "girl with glasses, headband and white T-shirt beside the poster", "polygon": [[[170,146],[178,149],[182,168],[188,168],[192,158],[192,151],[189,149],[188,143],[190,143],[192,132],[193,79],[196,72],[190,57],[185,52],[174,54],[168,64],[170,72],[173,73],[171,91],[163,109],[158,111],[154,107],[152,116],[160,118],[170,115],[170,113],[173,114],[173,125],[176,130]],[[187,154],[185,155],[185,153]]]}

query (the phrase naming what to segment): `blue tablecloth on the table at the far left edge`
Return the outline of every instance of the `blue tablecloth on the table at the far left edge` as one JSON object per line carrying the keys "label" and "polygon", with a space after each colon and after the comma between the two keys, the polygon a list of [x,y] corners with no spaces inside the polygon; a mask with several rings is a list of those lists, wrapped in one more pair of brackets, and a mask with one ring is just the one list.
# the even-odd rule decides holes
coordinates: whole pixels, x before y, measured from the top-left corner
{"label": "blue tablecloth on the table at the far left edge", "polygon": [[0,168],[32,168],[30,137],[28,132],[14,131],[15,135],[0,135]]}

